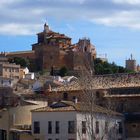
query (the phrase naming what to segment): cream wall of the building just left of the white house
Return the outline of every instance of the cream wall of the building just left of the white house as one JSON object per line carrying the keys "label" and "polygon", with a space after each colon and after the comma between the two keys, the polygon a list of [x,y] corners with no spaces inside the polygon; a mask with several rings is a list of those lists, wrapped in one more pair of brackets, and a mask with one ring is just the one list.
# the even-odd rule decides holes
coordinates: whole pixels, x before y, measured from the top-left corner
{"label": "cream wall of the building just left of the white house", "polygon": [[[37,103],[37,102],[36,102]],[[9,140],[9,129],[17,125],[31,125],[31,110],[44,107],[47,103],[38,102],[38,105],[17,106],[0,112],[0,129],[7,131]],[[24,138],[25,137],[25,138]],[[29,135],[23,135],[21,140],[32,140]]]}

